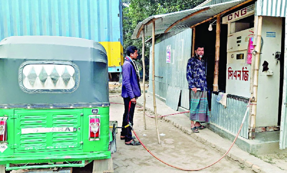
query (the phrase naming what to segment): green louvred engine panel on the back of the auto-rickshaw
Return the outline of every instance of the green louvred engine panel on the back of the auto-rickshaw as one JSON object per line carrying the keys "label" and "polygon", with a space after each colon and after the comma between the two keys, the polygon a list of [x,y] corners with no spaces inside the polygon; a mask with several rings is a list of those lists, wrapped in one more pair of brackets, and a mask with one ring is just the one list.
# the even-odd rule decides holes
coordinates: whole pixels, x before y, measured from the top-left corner
{"label": "green louvred engine panel on the back of the auto-rickshaw", "polygon": [[83,109],[15,110],[15,153],[82,149]]}

